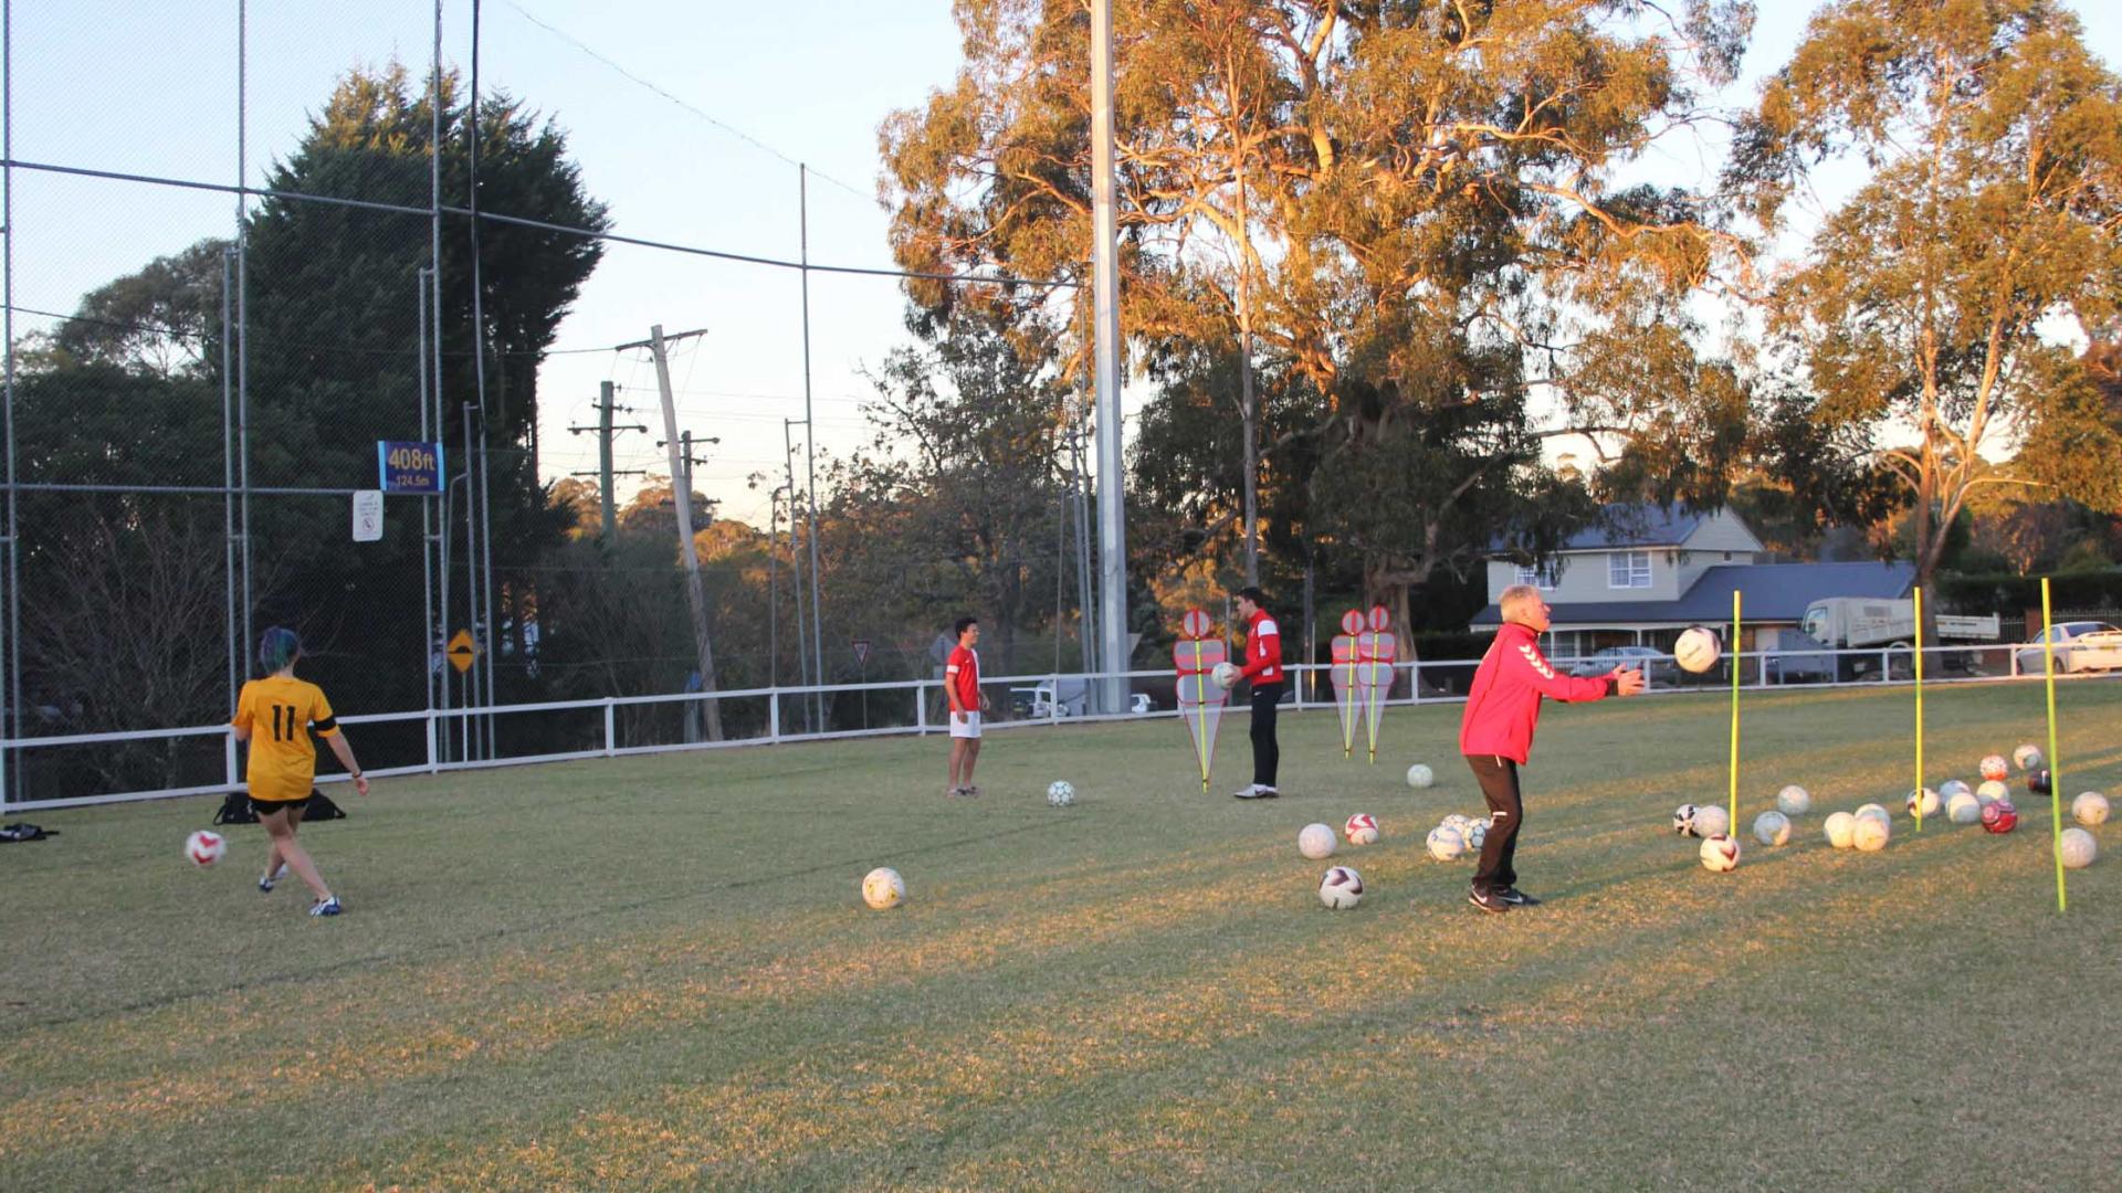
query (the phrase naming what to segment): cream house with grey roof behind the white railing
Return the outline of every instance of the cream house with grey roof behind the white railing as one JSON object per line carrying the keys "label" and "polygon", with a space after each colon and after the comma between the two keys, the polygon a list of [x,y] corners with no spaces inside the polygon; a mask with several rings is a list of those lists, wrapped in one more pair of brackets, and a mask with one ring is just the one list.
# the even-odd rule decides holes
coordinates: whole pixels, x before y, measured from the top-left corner
{"label": "cream house with grey roof behind the white railing", "polygon": [[1736,590],[1740,650],[1753,650],[1755,630],[1797,626],[1814,601],[1899,599],[1916,580],[1906,563],[1763,563],[1766,554],[1729,509],[1608,507],[1538,567],[1490,560],[1490,605],[1471,628],[1500,626],[1496,596],[1511,584],[1534,584],[1553,607],[1553,628],[1543,639],[1549,658],[1608,645],[1672,650],[1687,626],[1729,626]]}

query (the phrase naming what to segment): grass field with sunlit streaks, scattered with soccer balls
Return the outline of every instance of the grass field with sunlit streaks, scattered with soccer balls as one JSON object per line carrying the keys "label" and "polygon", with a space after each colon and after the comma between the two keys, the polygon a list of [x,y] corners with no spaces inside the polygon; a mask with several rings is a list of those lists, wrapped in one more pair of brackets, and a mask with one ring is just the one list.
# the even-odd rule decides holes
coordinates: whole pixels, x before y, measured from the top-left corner
{"label": "grass field with sunlit streaks, scattered with soccer balls", "polygon": [[[2060,692],[2067,796],[2122,783],[2122,684]],[[1931,781],[2041,741],[2037,686],[1937,690]],[[1521,885],[1424,855],[1481,811],[1458,709],[1377,766],[1284,717],[1280,802],[1216,794],[1176,722],[393,779],[303,836],[348,904],[253,889],[212,800],[40,813],[0,845],[4,1189],[2114,1189],[2122,858],[2056,915],[2048,800],[2012,836],[1827,811],[1910,785],[1910,694],[1746,705],[1710,875],[1666,822],[1725,798],[1717,696],[1549,707]],[[1439,785],[1409,790],[1407,762]],[[1080,802],[1048,809],[1048,779]],[[1371,811],[1324,911],[1297,830]],[[2122,824],[2122,822],[2118,822]],[[2122,830],[2101,830],[2122,853]],[[906,906],[862,875],[895,866]]]}

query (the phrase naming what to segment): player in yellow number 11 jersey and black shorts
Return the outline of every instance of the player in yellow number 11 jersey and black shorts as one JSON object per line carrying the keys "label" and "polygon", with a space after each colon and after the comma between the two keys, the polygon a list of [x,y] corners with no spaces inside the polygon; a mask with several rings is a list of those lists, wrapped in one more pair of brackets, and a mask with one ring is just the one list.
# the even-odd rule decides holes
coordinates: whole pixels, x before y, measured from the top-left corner
{"label": "player in yellow number 11 jersey and black shorts", "polygon": [[236,696],[236,741],[250,743],[250,807],[259,813],[259,824],[272,834],[272,853],[265,858],[265,877],[259,889],[269,892],[274,881],[286,877],[289,868],[310,883],[316,902],[310,915],[340,915],[337,896],[325,885],[310,862],[308,849],[295,841],[295,826],[301,809],[310,802],[310,788],[316,781],[316,745],[310,734],[325,739],[331,754],[340,758],[354,779],[354,790],[369,794],[369,781],[361,777],[354,762],[354,747],[346,745],[340,722],[331,715],[331,703],[316,684],[295,679],[295,660],[301,658],[301,639],[295,630],[274,626],[259,639],[259,667],[265,679],[244,681]]}

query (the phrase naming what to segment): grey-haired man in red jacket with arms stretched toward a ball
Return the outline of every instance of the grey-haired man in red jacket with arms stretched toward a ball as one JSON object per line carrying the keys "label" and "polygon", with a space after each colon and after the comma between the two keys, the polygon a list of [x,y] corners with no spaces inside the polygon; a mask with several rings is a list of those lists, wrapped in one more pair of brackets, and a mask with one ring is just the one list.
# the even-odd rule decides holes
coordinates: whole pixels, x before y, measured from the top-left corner
{"label": "grey-haired man in red jacket with arms stretched toward a ball", "polygon": [[1541,724],[1541,696],[1558,701],[1604,701],[1642,692],[1642,673],[1613,669],[1600,677],[1560,675],[1541,656],[1541,635],[1547,633],[1553,609],[1530,584],[1513,584],[1496,599],[1502,628],[1481,656],[1466,692],[1466,717],[1460,722],[1460,754],[1473,766],[1488,798],[1490,826],[1481,843],[1481,868],[1473,875],[1466,902],[1481,911],[1511,911],[1541,900],[1517,889],[1517,830],[1524,822],[1524,800],[1517,794],[1517,768],[1532,751],[1532,730]]}

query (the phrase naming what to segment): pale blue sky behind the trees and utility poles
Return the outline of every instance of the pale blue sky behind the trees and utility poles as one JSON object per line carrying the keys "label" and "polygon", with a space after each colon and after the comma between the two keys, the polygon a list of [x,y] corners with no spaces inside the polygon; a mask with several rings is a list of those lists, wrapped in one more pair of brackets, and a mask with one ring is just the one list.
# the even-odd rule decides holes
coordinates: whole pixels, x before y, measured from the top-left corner
{"label": "pale blue sky behind the trees and utility poles", "polygon": [[[352,66],[401,59],[424,70],[433,0],[250,0],[238,70],[238,8],[170,0],[8,0],[13,153],[21,161],[263,185],[272,157],[299,142],[308,115]],[[2122,17],[2071,4],[2092,49],[2122,66]],[[792,21],[789,13],[798,19]],[[1804,32],[1806,4],[1761,4],[1742,104]],[[480,83],[554,117],[615,231],[662,242],[891,267],[876,204],[876,127],[951,83],[959,64],[949,0],[768,4],[679,0],[484,0]],[[469,66],[471,4],[443,0],[443,57]],[[244,155],[238,157],[238,79]],[[1723,146],[1710,136],[1659,144],[1640,174],[1700,185]],[[808,227],[798,168],[806,163]],[[202,236],[227,236],[236,200],[138,183],[15,174],[15,306],[70,312],[81,295]],[[412,301],[407,297],[407,301]],[[889,278],[811,274],[811,393],[819,452],[870,437],[862,376],[906,344]],[[51,318],[17,314],[15,331]],[[783,418],[802,418],[802,293],[794,270],[611,246],[562,323],[539,397],[547,478],[596,467],[598,382],[620,386],[620,469],[666,471],[645,352],[611,352],[666,331],[709,333],[673,350],[679,427],[707,446],[694,484],[719,514],[764,526],[783,467]],[[1140,403],[1129,388],[1127,405]],[[414,437],[410,427],[403,437]],[[796,427],[796,444],[804,429]],[[796,456],[802,482],[802,456]],[[751,488],[751,473],[775,480]],[[626,486],[622,486],[622,492]]]}

